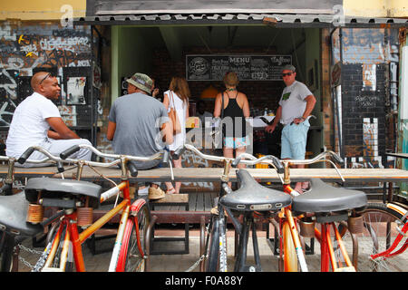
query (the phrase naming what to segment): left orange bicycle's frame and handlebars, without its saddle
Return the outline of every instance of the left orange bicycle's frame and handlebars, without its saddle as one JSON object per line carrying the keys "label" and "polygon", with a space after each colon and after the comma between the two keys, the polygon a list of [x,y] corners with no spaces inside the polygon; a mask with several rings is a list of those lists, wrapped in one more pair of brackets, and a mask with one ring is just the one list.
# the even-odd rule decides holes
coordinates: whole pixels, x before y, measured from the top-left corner
{"label": "left orange bicycle's frame and handlebars, without its saddle", "polygon": [[[63,154],[68,156],[69,154],[73,152],[73,149],[88,148],[99,156],[116,159],[112,161],[111,163],[101,163],[101,162],[88,161],[88,160],[69,160],[69,159],[61,160],[61,159],[54,157],[48,151],[44,150],[41,147],[33,147],[33,148],[34,150],[41,151],[48,158],[44,160],[33,160],[33,161],[28,160],[28,161],[33,162],[33,163],[43,163],[44,161],[51,159],[51,160],[56,160],[56,161],[63,161],[67,163],[77,164],[78,168],[77,168],[76,179],[78,180],[81,179],[84,165],[88,165],[91,167],[92,166],[111,167],[112,165],[121,163],[121,183],[116,185],[112,189],[109,189],[103,192],[100,198],[100,202],[103,202],[109,198],[119,195],[121,191],[122,198],[123,198],[121,203],[116,205],[114,208],[112,208],[107,213],[105,213],[101,218],[93,222],[92,225],[87,226],[81,233],[78,232],[78,228],[77,228],[77,220],[78,220],[77,210],[73,208],[64,209],[63,218],[61,218],[61,222],[58,227],[57,234],[54,237],[53,245],[51,246],[51,250],[50,250],[50,254],[46,257],[43,271],[58,271],[58,270],[63,271],[65,269],[65,264],[67,261],[67,256],[68,256],[70,247],[72,247],[72,250],[73,250],[73,259],[75,262],[76,270],[79,272],[85,271],[83,252],[82,252],[83,242],[88,237],[91,237],[92,234],[94,234],[98,229],[103,227],[103,225],[109,222],[114,216],[116,216],[120,212],[121,212],[121,220],[119,223],[118,233],[117,233],[114,247],[112,250],[112,258],[111,258],[111,262],[109,266],[109,271],[122,271],[123,270],[123,266],[124,266],[126,257],[121,256],[121,247],[122,247],[123,237],[125,237],[125,234],[127,233],[126,229],[128,227],[128,220],[130,218],[134,219],[134,224],[136,225],[135,231],[136,231],[137,247],[138,247],[139,253],[141,257],[143,258],[145,257],[145,253],[143,251],[143,245],[141,245],[141,240],[140,240],[141,234],[140,234],[139,221],[138,221],[137,214],[139,212],[139,209],[141,209],[146,204],[146,201],[144,199],[139,198],[131,204],[130,183],[129,183],[129,178],[128,178],[128,161],[129,160],[159,159],[161,156],[160,153],[157,153],[151,157],[137,158],[137,157],[131,157],[131,156],[125,156],[125,155],[104,154],[89,145],[74,146],[73,148],[66,150],[65,152],[62,153],[62,156]],[[71,152],[71,153],[68,153],[68,152]],[[27,155],[29,156],[29,154],[24,154],[24,161],[26,160],[26,158],[28,158]],[[59,247],[61,234],[63,233],[64,228],[66,228],[66,234],[63,240],[63,250],[61,254],[60,266],[58,268],[53,268],[51,267],[51,265],[55,258],[57,248]],[[129,229],[131,229],[131,227]],[[48,250],[48,246],[46,250]]]}

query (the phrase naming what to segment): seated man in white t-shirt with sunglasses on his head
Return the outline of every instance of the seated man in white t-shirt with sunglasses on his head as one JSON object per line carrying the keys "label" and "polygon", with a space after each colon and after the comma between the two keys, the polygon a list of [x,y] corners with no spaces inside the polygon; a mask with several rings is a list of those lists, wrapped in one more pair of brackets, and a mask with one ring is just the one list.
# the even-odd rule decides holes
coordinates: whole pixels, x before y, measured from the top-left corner
{"label": "seated man in white t-shirt with sunglasses on his head", "polygon": [[[5,152],[7,156],[18,159],[30,146],[41,146],[58,156],[73,145],[91,142],[71,131],[63,122],[58,107],[52,102],[58,100],[61,88],[58,80],[45,72],[35,73],[31,79],[34,93],[25,98],[17,108],[10,124]],[[53,129],[50,130],[50,128]],[[92,151],[81,149],[69,158],[91,160]],[[34,151],[29,160],[42,160],[43,153]],[[16,163],[19,166],[18,163]],[[24,163],[24,167],[38,167],[49,164]]]}

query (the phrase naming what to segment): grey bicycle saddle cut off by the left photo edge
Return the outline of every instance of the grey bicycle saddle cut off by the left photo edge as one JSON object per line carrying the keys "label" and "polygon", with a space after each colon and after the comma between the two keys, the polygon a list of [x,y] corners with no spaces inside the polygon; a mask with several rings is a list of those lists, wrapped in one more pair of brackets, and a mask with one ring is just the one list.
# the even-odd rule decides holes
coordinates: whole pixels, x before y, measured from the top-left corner
{"label": "grey bicycle saddle cut off by the left photo edge", "polygon": [[44,231],[40,225],[27,223],[28,201],[24,192],[12,196],[0,196],[0,230],[15,236],[34,237]]}

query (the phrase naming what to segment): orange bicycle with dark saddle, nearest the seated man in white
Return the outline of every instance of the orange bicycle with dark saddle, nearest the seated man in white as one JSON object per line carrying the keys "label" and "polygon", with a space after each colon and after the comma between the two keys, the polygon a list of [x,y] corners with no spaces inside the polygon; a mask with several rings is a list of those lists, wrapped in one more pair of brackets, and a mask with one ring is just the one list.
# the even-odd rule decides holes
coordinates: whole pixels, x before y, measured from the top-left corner
{"label": "orange bicycle with dark saddle, nearest the seated man in white", "polygon": [[[111,162],[97,162],[87,160],[71,160],[68,156],[76,150],[86,148],[102,158],[113,159]],[[129,172],[136,177],[138,170],[131,160],[148,161],[163,159],[167,162],[168,154],[159,152],[150,157],[135,157],[129,155],[106,154],[89,145],[77,145],[65,150],[60,157],[51,155],[41,147],[31,147],[19,158],[24,163],[34,150],[42,152],[44,160],[30,160],[34,163],[44,163],[53,160],[60,163],[75,164],[77,166],[76,180],[69,179],[28,179],[24,189],[25,198],[30,202],[27,219],[36,224],[43,219],[44,208],[59,208],[55,216],[60,218],[48,237],[49,242],[34,266],[34,271],[64,271],[75,266],[76,271],[85,271],[82,244],[98,229],[103,227],[115,215],[121,213],[118,233],[112,249],[109,271],[144,271],[145,266],[145,236],[150,222],[150,210],[142,198],[131,201]],[[80,180],[83,166],[88,166],[100,174],[93,167],[121,166],[121,183],[112,189],[102,192],[102,187],[92,182]],[[101,174],[100,174],[101,175]],[[102,175],[101,175],[102,176]],[[112,181],[112,180],[111,180]],[[122,201],[98,220],[92,220],[92,209],[100,203],[122,193]],[[116,200],[118,201],[118,199]],[[83,228],[79,230],[78,228]],[[70,246],[71,245],[71,246]],[[73,252],[73,263],[68,261],[68,254]]]}

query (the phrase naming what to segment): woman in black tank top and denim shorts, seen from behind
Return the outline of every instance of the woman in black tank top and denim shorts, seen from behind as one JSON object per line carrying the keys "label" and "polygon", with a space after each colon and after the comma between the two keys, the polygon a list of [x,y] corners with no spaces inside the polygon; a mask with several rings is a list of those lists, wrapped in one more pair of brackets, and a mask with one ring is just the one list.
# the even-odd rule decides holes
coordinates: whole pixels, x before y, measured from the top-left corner
{"label": "woman in black tank top and denim shorts, seen from behind", "polygon": [[[245,93],[238,92],[237,73],[227,73],[224,76],[225,92],[219,92],[215,102],[214,117],[223,116],[223,122],[226,124],[226,130],[223,137],[224,156],[234,158],[245,152],[249,145],[249,138],[246,131],[245,118],[249,117],[248,98]],[[224,101],[224,102],[223,102]],[[222,107],[224,103],[224,107]],[[245,167],[242,164],[238,168]]]}

